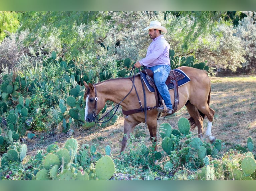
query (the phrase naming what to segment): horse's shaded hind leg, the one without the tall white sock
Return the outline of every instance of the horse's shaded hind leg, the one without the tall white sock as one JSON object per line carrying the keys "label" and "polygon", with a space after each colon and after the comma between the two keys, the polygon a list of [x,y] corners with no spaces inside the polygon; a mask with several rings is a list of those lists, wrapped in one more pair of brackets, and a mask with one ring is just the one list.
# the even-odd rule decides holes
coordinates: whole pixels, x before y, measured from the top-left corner
{"label": "horse's shaded hind leg, the one without the tall white sock", "polygon": [[203,139],[203,117],[200,115],[198,109],[192,105],[190,102],[186,104],[187,111],[190,115],[188,119],[190,122],[191,130],[194,130],[197,126],[198,128],[198,137]]}

